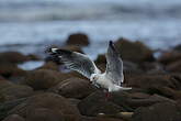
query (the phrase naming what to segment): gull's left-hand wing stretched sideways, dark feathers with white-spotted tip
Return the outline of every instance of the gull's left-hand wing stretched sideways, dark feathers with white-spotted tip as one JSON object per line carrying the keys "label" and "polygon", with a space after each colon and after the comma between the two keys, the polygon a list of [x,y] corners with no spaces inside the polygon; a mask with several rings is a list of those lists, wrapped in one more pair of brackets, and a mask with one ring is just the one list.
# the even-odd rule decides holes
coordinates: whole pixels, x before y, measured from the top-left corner
{"label": "gull's left-hand wing stretched sideways, dark feathers with white-spotted tip", "polygon": [[76,70],[87,78],[90,78],[92,74],[101,73],[95,64],[84,54],[59,48],[52,48],[50,52],[56,61],[59,59],[67,68]]}

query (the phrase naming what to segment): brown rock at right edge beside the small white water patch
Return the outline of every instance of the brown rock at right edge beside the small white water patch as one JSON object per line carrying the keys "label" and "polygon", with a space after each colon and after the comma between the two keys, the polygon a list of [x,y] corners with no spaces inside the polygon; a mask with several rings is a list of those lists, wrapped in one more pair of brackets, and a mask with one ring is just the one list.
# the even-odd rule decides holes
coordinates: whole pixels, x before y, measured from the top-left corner
{"label": "brown rock at right edge beside the small white water patch", "polygon": [[170,63],[177,62],[181,59],[181,53],[179,52],[165,52],[159,58],[158,62],[168,65]]}

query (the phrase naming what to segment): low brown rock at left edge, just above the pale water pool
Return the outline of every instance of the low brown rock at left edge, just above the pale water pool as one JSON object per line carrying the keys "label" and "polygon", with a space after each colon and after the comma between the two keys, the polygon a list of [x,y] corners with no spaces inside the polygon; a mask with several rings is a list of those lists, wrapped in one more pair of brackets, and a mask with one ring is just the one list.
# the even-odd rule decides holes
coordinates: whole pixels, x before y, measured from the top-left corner
{"label": "low brown rock at left edge, just above the pale water pool", "polygon": [[22,55],[19,52],[4,52],[0,53],[0,62],[1,63],[23,63],[29,61],[29,57]]}

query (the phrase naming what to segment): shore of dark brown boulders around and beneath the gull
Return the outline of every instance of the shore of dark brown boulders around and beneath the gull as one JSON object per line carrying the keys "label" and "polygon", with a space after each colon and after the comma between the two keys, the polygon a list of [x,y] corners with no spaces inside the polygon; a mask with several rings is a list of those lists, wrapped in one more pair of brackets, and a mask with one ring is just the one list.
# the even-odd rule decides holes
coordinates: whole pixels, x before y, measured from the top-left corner
{"label": "shore of dark brown boulders around and beneath the gull", "polygon": [[[84,34],[72,34],[63,48],[83,53]],[[128,91],[105,94],[76,72],[59,70],[50,58],[33,70],[18,64],[35,55],[0,53],[0,120],[2,121],[181,121],[181,46],[159,52],[140,42],[115,41],[124,61]],[[57,45],[55,45],[57,46]],[[97,48],[95,48],[97,50]],[[101,70],[106,59],[94,61]]]}

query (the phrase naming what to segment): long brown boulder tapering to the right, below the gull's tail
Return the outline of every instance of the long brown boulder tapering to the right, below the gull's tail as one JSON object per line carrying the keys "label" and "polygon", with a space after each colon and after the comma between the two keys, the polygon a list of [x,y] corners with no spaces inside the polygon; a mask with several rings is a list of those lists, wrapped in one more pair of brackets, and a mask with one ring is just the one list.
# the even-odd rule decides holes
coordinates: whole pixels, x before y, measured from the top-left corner
{"label": "long brown boulder tapering to the right, below the gull's tail", "polygon": [[109,100],[122,107],[125,111],[134,111],[138,107],[148,107],[157,102],[174,102],[158,95],[150,96],[143,92],[128,94],[127,91],[112,92]]}

